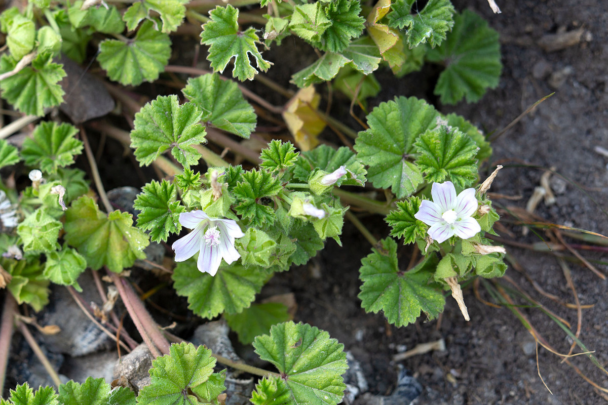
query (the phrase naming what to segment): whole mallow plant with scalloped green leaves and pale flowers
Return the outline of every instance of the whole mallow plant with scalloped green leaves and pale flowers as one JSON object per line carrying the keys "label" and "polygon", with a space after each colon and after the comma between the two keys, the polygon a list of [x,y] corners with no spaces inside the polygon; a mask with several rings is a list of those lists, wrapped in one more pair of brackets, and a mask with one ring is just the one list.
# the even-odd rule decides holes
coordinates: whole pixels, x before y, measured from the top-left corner
{"label": "whole mallow plant with scalloped green leaves and pale flowers", "polygon": [[[77,296],[78,276],[87,268],[103,270],[157,356],[151,385],[138,393],[89,378],[60,384],[58,395],[50,387],[34,392],[20,385],[2,405],[218,404],[225,399],[226,371],[216,371],[216,362],[261,377],[253,404],[340,403],[344,346],[327,332],[290,321],[285,305],[255,299],[276,273],[297,271],[328,238],[342,246],[345,217],[372,245],[359,269],[361,305],[381,311],[397,327],[438,316],[446,291],[469,319],[460,285],[505,272],[504,249],[485,237],[494,233],[499,216],[486,194],[493,177],[478,185],[480,167],[491,155],[481,131],[459,115],[401,96],[371,109],[356,132],[320,112],[314,90],[315,84],[330,83],[367,112],[365,99],[379,93],[373,72],[389,69],[399,78],[428,62],[444,67],[435,85],[441,103],[477,101],[498,83],[497,33],[473,12],[457,13],[449,0],[430,0],[422,9],[415,0],[371,6],[359,0],[261,0],[261,14],[251,11],[257,3],[34,0],[0,15],[1,95],[27,114],[27,122],[67,97],[60,53],[97,64],[114,82],[112,94],[131,100],[129,105],[132,92],[120,86],[155,81],[165,70],[193,72],[168,65],[182,24],[200,33],[212,70],[195,69],[181,94],[154,94],[136,114],[125,112],[131,124],[126,143],[135,160],[154,165],[159,174],[134,200],[136,218],[106,197],[85,131],[98,126],[74,126],[53,115],[19,147],[0,140],[0,287],[9,299],[40,311],[49,301],[50,283]],[[258,26],[243,27],[243,21]],[[249,163],[231,164],[202,145],[211,132],[250,138],[256,111],[267,103],[237,81],[287,64],[268,61],[263,52],[288,36],[301,38],[319,56],[292,75],[300,90],[281,111],[294,141],[273,139],[259,158],[249,154]],[[228,72],[237,81],[220,75]],[[261,107],[254,109],[247,98]],[[277,111],[264,112],[262,119],[268,114]],[[319,145],[325,123],[350,134],[354,145]],[[101,206],[85,172],[74,167],[83,151]],[[385,198],[371,199],[359,192],[364,187]],[[350,207],[384,216],[390,235],[376,240]],[[276,371],[230,361],[203,346],[168,343],[125,271],[147,260],[151,243],[167,247],[172,262],[165,270],[188,308],[202,319],[226,319],[240,341],[253,344]],[[406,267],[398,251],[420,252],[420,259]],[[118,343],[133,349],[134,340]]]}

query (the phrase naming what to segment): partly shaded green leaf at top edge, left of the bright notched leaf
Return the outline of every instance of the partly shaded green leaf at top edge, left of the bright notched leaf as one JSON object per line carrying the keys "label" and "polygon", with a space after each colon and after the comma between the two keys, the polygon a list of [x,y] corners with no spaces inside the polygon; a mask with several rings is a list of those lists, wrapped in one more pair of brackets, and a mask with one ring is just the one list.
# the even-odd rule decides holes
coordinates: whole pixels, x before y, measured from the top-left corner
{"label": "partly shaded green leaf at top edge, left of the bright notched leaf", "polygon": [[89,7],[81,10],[83,1],[78,0],[67,9],[70,22],[75,28],[91,26],[95,31],[106,34],[119,34],[125,30],[125,23],[114,5]]}

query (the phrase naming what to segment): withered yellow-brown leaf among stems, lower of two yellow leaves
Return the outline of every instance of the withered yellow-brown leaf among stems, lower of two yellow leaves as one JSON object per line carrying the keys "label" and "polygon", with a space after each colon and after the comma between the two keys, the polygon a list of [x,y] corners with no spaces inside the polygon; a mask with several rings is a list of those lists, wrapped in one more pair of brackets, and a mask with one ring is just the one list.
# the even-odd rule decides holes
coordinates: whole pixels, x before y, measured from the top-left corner
{"label": "withered yellow-brown leaf among stems, lower of two yellow leaves", "polygon": [[325,128],[325,121],[317,112],[319,101],[320,96],[314,86],[308,86],[298,90],[283,112],[283,120],[302,151],[309,151],[319,145],[317,137]]}

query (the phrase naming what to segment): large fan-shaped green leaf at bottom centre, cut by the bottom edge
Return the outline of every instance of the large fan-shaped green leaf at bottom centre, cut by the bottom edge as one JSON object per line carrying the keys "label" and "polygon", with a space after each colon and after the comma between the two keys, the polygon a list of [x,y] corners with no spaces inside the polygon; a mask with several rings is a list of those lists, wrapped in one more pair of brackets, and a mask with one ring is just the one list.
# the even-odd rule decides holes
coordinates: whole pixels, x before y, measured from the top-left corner
{"label": "large fan-shaped green leaf at bottom centre, cut by the bottom edge", "polygon": [[344,345],[330,334],[308,324],[285,322],[274,325],[270,335],[257,336],[255,352],[274,364],[295,404],[337,404],[346,384],[348,369]]}

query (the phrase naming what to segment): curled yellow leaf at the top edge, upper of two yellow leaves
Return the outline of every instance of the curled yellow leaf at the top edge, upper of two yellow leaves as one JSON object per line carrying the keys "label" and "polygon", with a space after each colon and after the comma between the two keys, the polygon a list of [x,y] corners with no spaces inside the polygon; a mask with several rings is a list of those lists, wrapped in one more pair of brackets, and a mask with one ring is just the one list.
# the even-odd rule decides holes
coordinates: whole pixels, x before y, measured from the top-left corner
{"label": "curled yellow leaf at the top edge, upper of two yellow leaves", "polygon": [[367,16],[367,32],[378,46],[382,58],[389,63],[394,72],[406,61],[406,55],[403,52],[401,32],[385,24],[378,24],[378,21],[389,11],[390,0],[379,0]]}

